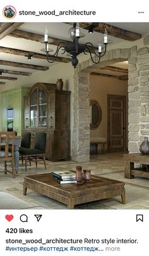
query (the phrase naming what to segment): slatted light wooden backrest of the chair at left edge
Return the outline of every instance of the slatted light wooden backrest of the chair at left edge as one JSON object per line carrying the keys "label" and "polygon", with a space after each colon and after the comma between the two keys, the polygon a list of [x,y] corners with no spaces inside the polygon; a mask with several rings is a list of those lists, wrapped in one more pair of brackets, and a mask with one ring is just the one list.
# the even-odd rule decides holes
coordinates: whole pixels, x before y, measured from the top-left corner
{"label": "slatted light wooden backrest of the chair at left edge", "polygon": [[[11,149],[9,148],[11,145]],[[3,148],[1,150],[1,148]],[[15,148],[15,132],[0,132],[0,161],[1,159],[8,159],[14,157],[14,148]]]}

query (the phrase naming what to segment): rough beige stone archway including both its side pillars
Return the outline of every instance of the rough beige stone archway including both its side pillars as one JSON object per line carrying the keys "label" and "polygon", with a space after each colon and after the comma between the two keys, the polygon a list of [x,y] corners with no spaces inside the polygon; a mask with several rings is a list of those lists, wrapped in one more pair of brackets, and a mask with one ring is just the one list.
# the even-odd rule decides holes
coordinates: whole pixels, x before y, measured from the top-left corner
{"label": "rough beige stone archway including both its side pillars", "polygon": [[90,158],[90,72],[116,62],[128,60],[128,150],[139,152],[144,136],[149,136],[149,36],[144,37],[143,48],[107,51],[99,64],[86,60],[75,70],[74,126],[71,140],[73,160]]}

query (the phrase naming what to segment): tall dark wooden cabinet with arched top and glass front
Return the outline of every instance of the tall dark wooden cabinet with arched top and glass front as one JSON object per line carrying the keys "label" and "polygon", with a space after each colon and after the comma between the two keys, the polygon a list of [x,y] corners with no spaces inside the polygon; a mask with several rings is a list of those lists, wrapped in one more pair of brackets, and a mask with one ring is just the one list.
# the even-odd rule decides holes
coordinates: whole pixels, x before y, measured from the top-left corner
{"label": "tall dark wooden cabinet with arched top and glass front", "polygon": [[70,91],[56,90],[56,84],[36,83],[25,98],[25,131],[45,131],[45,157],[52,161],[70,158]]}

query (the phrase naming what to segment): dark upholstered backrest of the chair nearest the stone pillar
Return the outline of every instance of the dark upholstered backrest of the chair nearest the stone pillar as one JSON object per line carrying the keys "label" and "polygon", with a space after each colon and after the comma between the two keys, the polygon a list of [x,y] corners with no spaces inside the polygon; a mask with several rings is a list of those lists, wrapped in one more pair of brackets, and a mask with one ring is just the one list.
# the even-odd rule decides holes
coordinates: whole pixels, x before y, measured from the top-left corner
{"label": "dark upholstered backrest of the chair nearest the stone pillar", "polygon": [[42,153],[45,153],[46,147],[46,133],[45,132],[37,132],[35,134],[35,146],[34,149],[39,149]]}

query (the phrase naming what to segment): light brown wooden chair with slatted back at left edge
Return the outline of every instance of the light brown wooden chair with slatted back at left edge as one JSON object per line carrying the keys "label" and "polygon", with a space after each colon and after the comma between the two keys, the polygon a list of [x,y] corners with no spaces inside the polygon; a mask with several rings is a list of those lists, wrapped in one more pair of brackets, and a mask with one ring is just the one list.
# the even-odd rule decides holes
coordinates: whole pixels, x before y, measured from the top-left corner
{"label": "light brown wooden chair with slatted back at left edge", "polygon": [[[11,147],[9,145],[11,144]],[[15,132],[8,131],[8,132],[0,132],[0,161],[4,162],[4,172],[12,173],[13,178],[15,178],[15,159],[14,159],[14,152],[15,149]],[[7,161],[11,161],[11,168],[12,172],[7,170]]]}

